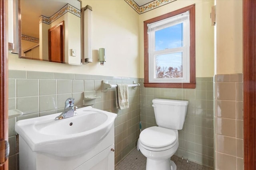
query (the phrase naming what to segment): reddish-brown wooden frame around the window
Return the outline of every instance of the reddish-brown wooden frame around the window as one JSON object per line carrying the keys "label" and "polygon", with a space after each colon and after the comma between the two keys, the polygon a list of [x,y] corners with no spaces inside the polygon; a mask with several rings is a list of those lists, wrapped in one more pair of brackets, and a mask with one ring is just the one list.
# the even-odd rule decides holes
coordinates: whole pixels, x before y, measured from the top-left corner
{"label": "reddish-brown wooden frame around the window", "polygon": [[[148,75],[148,23],[156,22],[169,18],[183,12],[190,11],[190,82],[189,83],[150,83]],[[162,16],[151,18],[144,21],[144,86],[162,88],[196,88],[196,7],[195,4],[169,12]]]}

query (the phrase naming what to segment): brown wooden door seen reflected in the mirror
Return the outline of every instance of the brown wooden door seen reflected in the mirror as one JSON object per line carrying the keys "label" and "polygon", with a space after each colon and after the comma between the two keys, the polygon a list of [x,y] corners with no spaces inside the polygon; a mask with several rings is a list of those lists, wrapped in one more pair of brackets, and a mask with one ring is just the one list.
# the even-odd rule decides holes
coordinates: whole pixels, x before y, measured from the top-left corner
{"label": "brown wooden door seen reflected in the mirror", "polygon": [[64,63],[64,21],[48,29],[49,61]]}

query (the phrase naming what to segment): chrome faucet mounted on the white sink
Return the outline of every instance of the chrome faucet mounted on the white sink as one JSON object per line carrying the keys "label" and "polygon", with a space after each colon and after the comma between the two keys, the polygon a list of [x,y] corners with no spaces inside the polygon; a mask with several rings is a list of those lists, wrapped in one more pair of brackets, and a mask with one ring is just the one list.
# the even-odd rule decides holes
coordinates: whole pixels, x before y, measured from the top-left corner
{"label": "chrome faucet mounted on the white sink", "polygon": [[66,100],[65,110],[59,116],[55,117],[55,120],[65,119],[77,115],[77,113],[74,113],[74,111],[77,109],[77,106],[74,106],[74,100],[74,98],[68,98]]}

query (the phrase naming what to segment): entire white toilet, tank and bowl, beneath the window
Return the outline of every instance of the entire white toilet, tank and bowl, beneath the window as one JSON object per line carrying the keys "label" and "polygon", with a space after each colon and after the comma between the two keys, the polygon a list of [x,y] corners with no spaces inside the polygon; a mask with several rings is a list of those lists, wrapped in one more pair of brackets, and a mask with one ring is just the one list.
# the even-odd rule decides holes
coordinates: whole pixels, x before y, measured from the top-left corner
{"label": "entire white toilet, tank and bowl, beneath the window", "polygon": [[188,101],[154,99],[152,100],[156,124],[140,133],[138,148],[146,156],[146,170],[176,170],[170,160],[177,151],[178,130],[182,129]]}

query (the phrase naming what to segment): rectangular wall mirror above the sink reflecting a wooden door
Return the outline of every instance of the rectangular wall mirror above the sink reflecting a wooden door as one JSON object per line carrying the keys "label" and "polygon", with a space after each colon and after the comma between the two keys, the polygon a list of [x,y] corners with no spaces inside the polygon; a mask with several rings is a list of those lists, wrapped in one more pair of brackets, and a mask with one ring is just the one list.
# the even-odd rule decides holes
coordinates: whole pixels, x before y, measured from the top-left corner
{"label": "rectangular wall mirror above the sink reflecting a wooden door", "polygon": [[80,0],[18,0],[19,58],[81,65],[80,9]]}

